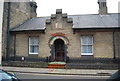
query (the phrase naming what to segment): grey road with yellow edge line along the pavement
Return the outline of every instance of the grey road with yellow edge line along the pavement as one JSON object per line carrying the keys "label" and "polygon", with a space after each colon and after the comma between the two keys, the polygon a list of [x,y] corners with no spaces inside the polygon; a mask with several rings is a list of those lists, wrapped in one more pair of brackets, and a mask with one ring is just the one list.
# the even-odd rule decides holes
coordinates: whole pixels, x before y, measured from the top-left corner
{"label": "grey road with yellow edge line along the pavement", "polygon": [[[106,81],[109,76],[85,76],[85,75],[57,75],[57,74],[35,74],[35,73],[15,73],[22,81],[41,81],[41,79],[64,79],[64,80],[78,80],[78,81]],[[53,81],[52,80],[52,81]],[[57,81],[58,81],[57,80]],[[55,80],[56,81],[56,80]],[[73,81],[73,80],[72,80]]]}

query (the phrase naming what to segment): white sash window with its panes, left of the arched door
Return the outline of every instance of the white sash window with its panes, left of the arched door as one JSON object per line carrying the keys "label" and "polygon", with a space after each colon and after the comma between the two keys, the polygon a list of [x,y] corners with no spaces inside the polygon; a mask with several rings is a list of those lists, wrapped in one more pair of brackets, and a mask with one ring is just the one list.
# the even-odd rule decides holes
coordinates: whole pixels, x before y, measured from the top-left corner
{"label": "white sash window with its panes, left of the arched door", "polygon": [[39,37],[29,37],[29,54],[38,54]]}

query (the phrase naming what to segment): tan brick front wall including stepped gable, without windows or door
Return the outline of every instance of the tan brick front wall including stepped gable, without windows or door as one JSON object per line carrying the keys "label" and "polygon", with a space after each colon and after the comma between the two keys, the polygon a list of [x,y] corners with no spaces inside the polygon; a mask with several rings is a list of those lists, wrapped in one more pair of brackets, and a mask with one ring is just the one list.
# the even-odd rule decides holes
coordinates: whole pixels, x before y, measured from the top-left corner
{"label": "tan brick front wall including stepped gable, without windows or door", "polygon": [[[69,18],[63,18],[62,13],[55,14],[56,18],[50,19],[51,23],[46,24],[44,33],[40,32],[21,32],[16,33],[16,56],[30,57],[29,54],[29,37],[39,37],[39,53],[37,57],[47,58],[52,56],[51,46],[55,40],[61,39],[67,46],[66,56],[69,58],[81,58],[81,36],[93,36],[93,58],[114,58],[113,32],[103,29],[102,31],[94,30],[89,32],[85,30],[82,32],[74,32],[72,29],[72,22],[68,22]],[[62,33],[63,35],[54,35]],[[14,34],[13,34],[14,35]],[[33,54],[32,57],[34,57]],[[35,56],[36,57],[36,56]]]}

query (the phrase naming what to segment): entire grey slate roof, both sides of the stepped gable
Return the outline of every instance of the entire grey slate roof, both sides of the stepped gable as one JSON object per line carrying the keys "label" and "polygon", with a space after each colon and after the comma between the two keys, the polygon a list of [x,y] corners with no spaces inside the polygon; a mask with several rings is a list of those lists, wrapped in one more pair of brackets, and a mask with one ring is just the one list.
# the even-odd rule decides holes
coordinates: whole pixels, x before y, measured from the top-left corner
{"label": "entire grey slate roof, both sides of the stepped gable", "polygon": [[[69,15],[73,18],[73,29],[81,28],[119,28],[118,16],[120,14],[107,15]],[[45,30],[46,19],[50,17],[34,17],[11,29],[11,31]]]}

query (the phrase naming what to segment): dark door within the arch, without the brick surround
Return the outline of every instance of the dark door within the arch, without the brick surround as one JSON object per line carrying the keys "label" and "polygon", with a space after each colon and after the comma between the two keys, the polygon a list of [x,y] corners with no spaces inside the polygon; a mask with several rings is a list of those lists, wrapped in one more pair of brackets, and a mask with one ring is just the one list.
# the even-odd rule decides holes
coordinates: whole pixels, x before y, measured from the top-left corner
{"label": "dark door within the arch, without the brick surround", "polygon": [[64,61],[65,57],[65,43],[62,39],[54,41],[55,61]]}

